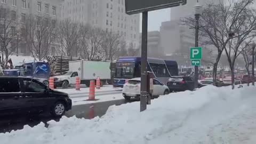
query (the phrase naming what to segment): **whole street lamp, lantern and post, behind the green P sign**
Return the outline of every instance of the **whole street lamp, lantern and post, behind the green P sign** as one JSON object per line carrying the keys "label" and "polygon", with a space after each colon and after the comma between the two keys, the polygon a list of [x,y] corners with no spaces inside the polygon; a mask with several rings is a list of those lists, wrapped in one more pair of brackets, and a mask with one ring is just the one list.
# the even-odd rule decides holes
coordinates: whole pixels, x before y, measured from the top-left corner
{"label": "whole street lamp, lantern and post, behind the green P sign", "polygon": [[[195,47],[198,47],[198,33],[199,33],[199,17],[202,13],[202,6],[199,5],[199,2],[197,0],[197,3],[195,5],[195,19],[196,19],[196,32],[195,32]],[[195,66],[195,88],[198,87],[198,66]]]}

